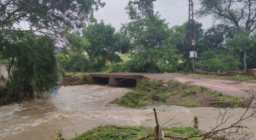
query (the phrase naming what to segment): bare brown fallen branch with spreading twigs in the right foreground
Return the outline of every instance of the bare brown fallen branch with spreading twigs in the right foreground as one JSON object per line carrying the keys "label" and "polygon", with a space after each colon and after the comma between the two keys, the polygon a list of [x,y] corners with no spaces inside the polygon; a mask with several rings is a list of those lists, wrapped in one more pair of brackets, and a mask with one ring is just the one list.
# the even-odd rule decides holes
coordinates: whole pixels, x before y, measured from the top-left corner
{"label": "bare brown fallen branch with spreading twigs in the right foreground", "polygon": [[[191,136],[184,136],[184,137],[175,137],[172,135],[164,135],[164,138],[172,138],[174,140],[189,140],[190,138],[201,138],[201,140],[206,140],[206,139],[211,139],[211,138],[228,138],[229,140],[231,140],[230,136],[240,135],[243,137],[240,138],[239,140],[248,140],[248,139],[252,138],[253,134],[246,132],[245,128],[248,128],[248,127],[243,126],[242,121],[246,120],[250,117],[256,117],[256,104],[252,105],[252,102],[255,98],[256,98],[256,94],[254,94],[253,91],[251,94],[249,92],[249,99],[248,99],[249,105],[247,106],[244,114],[242,114],[242,116],[240,117],[240,119],[237,122],[235,122],[234,124],[232,124],[229,127],[220,128],[220,126],[225,124],[229,118],[234,116],[234,115],[232,115],[232,116],[226,117],[227,110],[224,108],[224,110],[225,110],[224,113],[222,113],[219,110],[219,116],[217,118],[217,126],[212,128],[212,130],[210,130],[209,132],[206,132],[201,135],[197,135],[199,132],[201,132],[201,131],[198,131],[195,134],[192,134]],[[155,115],[155,120],[156,120],[155,130],[154,130],[153,134],[148,134],[147,136],[140,138],[139,140],[151,140],[152,137],[154,137],[154,140],[162,140],[163,139],[162,138],[163,137],[162,136],[162,126],[164,124],[166,124],[167,122],[164,123],[162,126],[159,126],[156,109],[154,108],[153,110],[154,110],[154,115]],[[248,113],[249,110],[252,110],[252,112],[250,113],[249,116],[246,116],[246,114]],[[170,122],[174,117],[172,117],[168,122]],[[218,121],[220,121],[220,123],[218,123]],[[174,124],[171,124],[170,126],[179,124],[179,123],[180,122],[174,123]],[[198,123],[197,118],[194,118],[194,123],[197,126],[197,123]]]}

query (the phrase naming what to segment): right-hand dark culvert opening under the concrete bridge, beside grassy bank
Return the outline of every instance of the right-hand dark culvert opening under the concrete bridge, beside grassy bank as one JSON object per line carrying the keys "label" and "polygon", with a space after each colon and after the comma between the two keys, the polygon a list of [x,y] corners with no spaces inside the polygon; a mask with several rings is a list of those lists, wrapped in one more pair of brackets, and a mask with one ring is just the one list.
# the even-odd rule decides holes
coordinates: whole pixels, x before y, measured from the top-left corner
{"label": "right-hand dark culvert opening under the concrete bridge, beside grassy bank", "polygon": [[108,84],[109,86],[114,87],[134,87],[137,84],[136,78],[114,78],[115,83]]}

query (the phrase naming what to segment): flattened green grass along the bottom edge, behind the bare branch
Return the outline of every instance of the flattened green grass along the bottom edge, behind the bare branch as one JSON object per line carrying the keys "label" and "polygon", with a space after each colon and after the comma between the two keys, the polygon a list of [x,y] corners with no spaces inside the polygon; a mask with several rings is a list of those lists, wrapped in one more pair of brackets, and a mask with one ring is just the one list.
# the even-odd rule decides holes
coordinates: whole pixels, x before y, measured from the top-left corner
{"label": "flattened green grass along the bottom edge, behind the bare branch", "polygon": [[[143,126],[115,126],[106,125],[88,130],[83,134],[69,140],[135,140],[142,138],[149,133],[153,132],[153,128]],[[164,134],[170,134],[172,136],[186,137],[192,134],[196,134],[198,130],[191,127],[177,127],[177,128],[164,128]],[[196,135],[203,134],[199,132]],[[57,139],[56,139],[57,140]],[[61,140],[65,140],[62,138]],[[68,139],[66,139],[68,140]],[[165,138],[165,140],[169,140]],[[191,138],[190,140],[200,140],[200,138]]]}

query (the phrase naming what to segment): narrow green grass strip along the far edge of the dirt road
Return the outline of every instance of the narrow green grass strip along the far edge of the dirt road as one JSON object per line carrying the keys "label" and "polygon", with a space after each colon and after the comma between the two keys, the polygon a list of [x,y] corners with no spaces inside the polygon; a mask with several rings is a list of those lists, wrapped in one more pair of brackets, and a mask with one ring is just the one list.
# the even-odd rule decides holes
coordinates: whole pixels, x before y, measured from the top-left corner
{"label": "narrow green grass strip along the far edge of the dirt road", "polygon": [[221,80],[234,80],[234,81],[247,81],[256,82],[256,77],[249,77],[245,75],[237,76],[217,76],[217,75],[205,75],[205,74],[182,74],[182,73],[168,73],[169,75],[182,75],[182,76],[192,76],[192,77],[202,77],[202,78],[212,78]]}

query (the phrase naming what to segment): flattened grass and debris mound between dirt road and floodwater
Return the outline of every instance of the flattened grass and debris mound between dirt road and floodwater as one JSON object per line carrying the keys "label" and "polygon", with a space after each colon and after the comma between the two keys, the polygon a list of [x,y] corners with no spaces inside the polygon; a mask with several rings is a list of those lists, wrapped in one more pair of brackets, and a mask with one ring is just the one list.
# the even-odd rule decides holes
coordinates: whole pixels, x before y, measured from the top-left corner
{"label": "flattened grass and debris mound between dirt road and floodwater", "polygon": [[122,96],[120,99],[115,99],[109,104],[118,104],[130,108],[140,108],[152,102],[162,102],[166,105],[178,105],[186,107],[231,107],[239,108],[246,107],[248,100],[224,96],[216,91],[209,90],[202,86],[183,84],[177,81],[141,80],[136,88]]}

